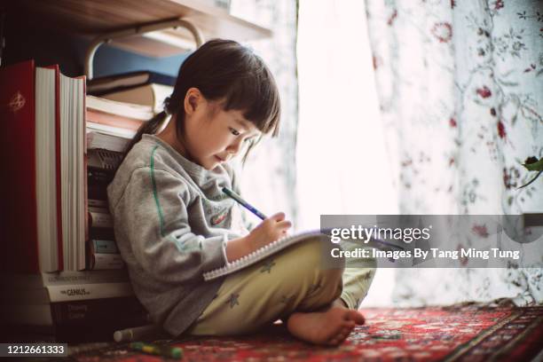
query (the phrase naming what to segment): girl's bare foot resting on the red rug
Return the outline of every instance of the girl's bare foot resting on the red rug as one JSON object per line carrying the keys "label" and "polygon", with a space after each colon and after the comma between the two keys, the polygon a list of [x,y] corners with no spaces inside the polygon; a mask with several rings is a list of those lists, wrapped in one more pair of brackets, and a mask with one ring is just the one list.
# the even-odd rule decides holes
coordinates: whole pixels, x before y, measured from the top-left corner
{"label": "girl's bare foot resting on the red rug", "polygon": [[336,346],[345,341],[356,325],[362,324],[362,313],[334,303],[326,311],[296,311],[288,318],[287,329],[303,341]]}

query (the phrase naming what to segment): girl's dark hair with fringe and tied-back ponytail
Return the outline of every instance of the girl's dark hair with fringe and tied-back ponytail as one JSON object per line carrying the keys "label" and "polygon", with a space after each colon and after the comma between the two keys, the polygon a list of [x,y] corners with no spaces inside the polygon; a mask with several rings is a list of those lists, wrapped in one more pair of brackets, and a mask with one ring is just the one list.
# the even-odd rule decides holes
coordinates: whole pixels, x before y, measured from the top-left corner
{"label": "girl's dark hair with fringe and tied-back ponytail", "polygon": [[[129,153],[142,138],[153,134],[169,114],[176,115],[177,137],[183,140],[186,92],[197,88],[208,100],[224,99],[224,110],[240,110],[263,134],[279,133],[279,91],[264,61],[253,51],[232,40],[214,39],[201,45],[179,68],[173,93],[164,102],[164,111],[145,122],[126,149]],[[256,142],[248,146],[245,162]],[[125,154],[126,154],[125,153]]]}

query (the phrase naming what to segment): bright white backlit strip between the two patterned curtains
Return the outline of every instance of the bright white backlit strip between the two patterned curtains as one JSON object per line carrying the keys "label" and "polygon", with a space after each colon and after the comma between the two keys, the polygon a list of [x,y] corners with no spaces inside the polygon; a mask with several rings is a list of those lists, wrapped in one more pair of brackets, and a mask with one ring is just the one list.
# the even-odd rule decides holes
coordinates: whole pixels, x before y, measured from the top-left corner
{"label": "bright white backlit strip between the two patterned curtains", "polygon": [[[296,228],[321,214],[397,214],[371,50],[359,0],[300,0]],[[388,304],[393,270],[379,270],[362,305]]]}

